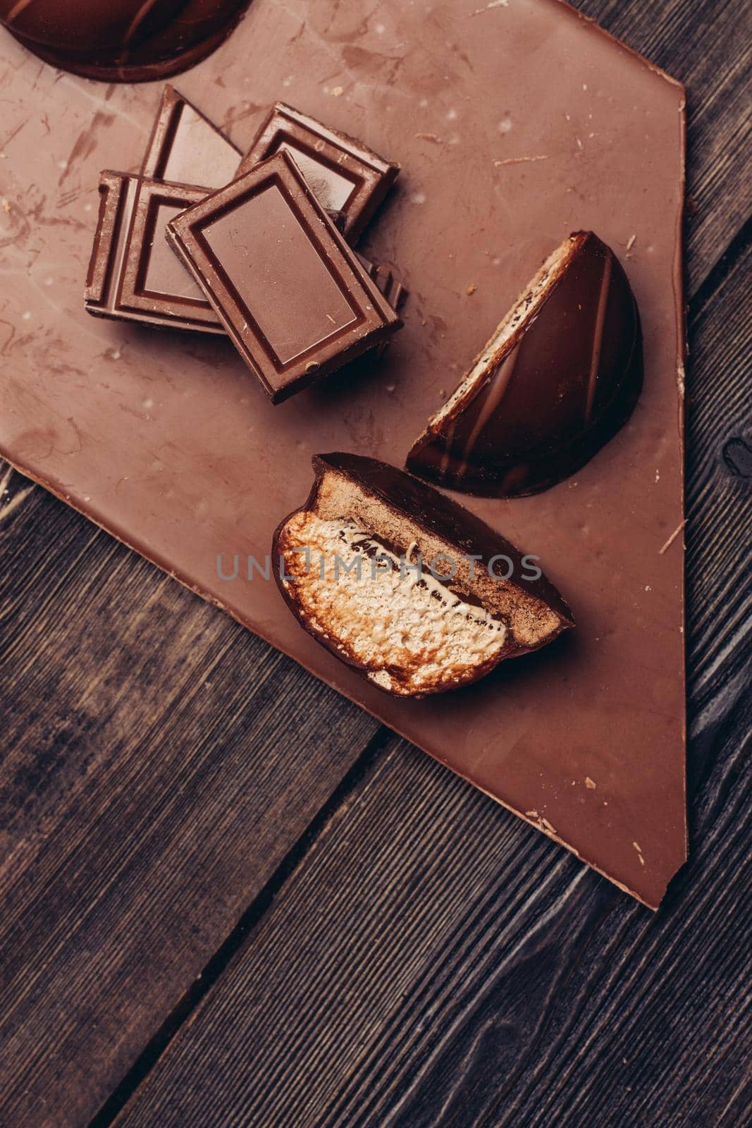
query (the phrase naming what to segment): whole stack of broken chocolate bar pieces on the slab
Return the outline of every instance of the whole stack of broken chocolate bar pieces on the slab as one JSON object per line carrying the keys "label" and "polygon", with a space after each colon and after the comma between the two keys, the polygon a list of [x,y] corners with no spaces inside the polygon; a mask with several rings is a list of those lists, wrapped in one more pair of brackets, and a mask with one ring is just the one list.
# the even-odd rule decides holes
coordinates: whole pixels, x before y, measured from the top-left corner
{"label": "whole stack of broken chocolate bar pieces on the slab", "polygon": [[399,166],[278,103],[249,152],[166,87],[141,171],[104,171],[86,308],[227,333],[273,403],[401,326],[353,244]]}

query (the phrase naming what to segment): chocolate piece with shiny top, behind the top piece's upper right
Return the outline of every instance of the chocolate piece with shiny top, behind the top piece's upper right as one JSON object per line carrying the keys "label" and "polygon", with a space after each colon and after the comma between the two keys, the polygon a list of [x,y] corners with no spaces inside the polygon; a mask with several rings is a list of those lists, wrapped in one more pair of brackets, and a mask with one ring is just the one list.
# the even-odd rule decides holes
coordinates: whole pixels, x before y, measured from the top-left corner
{"label": "chocolate piece with shiny top, behind the top piece's upper right", "polygon": [[356,240],[399,173],[399,165],[361,141],[277,102],[240,173],[281,150],[293,157],[322,208],[345,213],[344,233],[350,243]]}

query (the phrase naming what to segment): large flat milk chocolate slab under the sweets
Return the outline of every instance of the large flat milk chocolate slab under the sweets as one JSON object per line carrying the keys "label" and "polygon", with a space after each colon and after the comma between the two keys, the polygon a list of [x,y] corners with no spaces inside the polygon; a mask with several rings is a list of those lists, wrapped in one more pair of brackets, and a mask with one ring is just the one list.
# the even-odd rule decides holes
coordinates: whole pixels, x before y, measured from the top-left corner
{"label": "large flat milk chocolate slab under the sweets", "polygon": [[[182,89],[241,148],[283,90],[399,159],[402,188],[363,250],[399,264],[410,290],[378,372],[363,361],[361,378],[274,407],[221,338],[82,308],[99,170],[139,167],[159,89],[61,79],[9,37],[2,52],[2,452],[657,905],[685,852],[681,534],[665,548],[683,517],[681,87],[555,0],[254,0]],[[625,257],[639,403],[572,481],[462,499],[540,554],[577,629],[468,691],[391,700],[306,635],[272,580],[219,580],[216,555],[263,561],[316,451],[400,465],[521,280],[578,229]]]}

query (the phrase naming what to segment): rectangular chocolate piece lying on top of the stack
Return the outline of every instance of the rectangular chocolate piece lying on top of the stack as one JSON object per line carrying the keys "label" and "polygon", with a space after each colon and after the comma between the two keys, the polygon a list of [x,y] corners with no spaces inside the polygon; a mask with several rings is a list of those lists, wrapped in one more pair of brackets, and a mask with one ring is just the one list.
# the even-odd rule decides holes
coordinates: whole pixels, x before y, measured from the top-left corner
{"label": "rectangular chocolate piece lying on top of the stack", "polygon": [[177,215],[167,235],[273,403],[401,325],[286,152]]}

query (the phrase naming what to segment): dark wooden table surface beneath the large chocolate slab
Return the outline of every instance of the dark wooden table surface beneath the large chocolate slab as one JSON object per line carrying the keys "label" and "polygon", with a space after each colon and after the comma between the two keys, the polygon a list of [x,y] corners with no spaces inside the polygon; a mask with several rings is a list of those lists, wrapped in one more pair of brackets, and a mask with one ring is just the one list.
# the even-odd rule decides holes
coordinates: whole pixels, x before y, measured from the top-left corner
{"label": "dark wooden table surface beneath the large chocolate slab", "polygon": [[2,1128],[752,1122],[745,5],[581,8],[688,87],[689,864],[649,913],[7,469]]}

